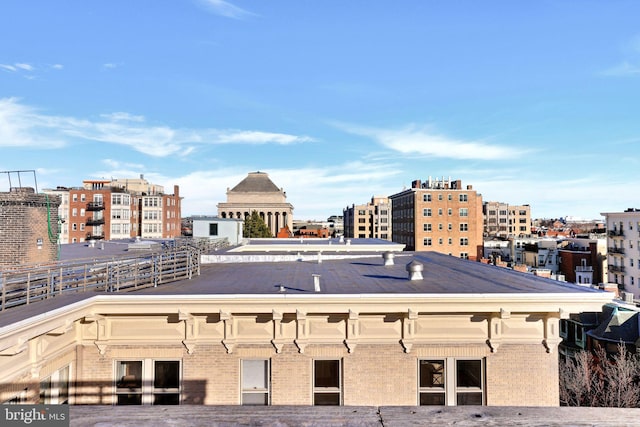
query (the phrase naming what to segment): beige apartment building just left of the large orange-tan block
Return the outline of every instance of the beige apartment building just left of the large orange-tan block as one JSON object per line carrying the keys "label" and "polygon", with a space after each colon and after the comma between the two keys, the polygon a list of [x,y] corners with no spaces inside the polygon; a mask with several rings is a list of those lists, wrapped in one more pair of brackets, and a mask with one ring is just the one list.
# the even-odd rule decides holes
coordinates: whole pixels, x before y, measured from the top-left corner
{"label": "beige apartment building just left of the large orange-tan block", "polygon": [[366,204],[346,207],[344,236],[392,241],[391,211],[391,202],[384,196],[373,196]]}

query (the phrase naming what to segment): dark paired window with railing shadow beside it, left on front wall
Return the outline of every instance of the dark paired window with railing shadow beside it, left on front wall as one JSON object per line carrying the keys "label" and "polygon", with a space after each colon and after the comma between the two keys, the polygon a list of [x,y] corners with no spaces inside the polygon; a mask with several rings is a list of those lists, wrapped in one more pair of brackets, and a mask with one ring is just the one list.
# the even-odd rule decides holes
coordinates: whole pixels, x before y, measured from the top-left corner
{"label": "dark paired window with railing shadow beside it, left on front wall", "polygon": [[180,361],[116,362],[118,405],[179,405]]}

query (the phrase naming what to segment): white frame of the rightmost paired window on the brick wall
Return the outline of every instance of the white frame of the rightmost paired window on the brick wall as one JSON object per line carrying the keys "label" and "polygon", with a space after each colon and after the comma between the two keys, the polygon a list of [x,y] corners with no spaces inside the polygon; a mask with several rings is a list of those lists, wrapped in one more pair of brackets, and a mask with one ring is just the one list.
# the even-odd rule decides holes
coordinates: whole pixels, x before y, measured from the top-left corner
{"label": "white frame of the rightmost paired window on the brick wall", "polygon": [[[457,384],[458,362],[478,361],[480,362],[480,387],[465,387]],[[421,387],[420,385],[420,367],[423,362],[442,362],[443,366],[443,383],[438,387]],[[418,396],[417,404],[420,405],[420,396],[422,394],[444,394],[445,406],[458,406],[458,395],[467,393],[481,393],[482,405],[486,405],[486,362],[484,358],[467,358],[467,357],[421,357],[418,359]]]}

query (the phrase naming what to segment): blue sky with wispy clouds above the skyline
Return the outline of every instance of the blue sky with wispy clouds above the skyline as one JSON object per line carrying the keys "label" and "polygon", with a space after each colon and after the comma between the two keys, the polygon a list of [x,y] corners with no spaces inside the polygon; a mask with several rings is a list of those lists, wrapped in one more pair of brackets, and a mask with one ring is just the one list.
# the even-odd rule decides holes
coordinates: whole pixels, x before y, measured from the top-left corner
{"label": "blue sky with wispy clouds above the skyline", "polygon": [[[640,2],[4,0],[0,171],[183,215],[269,173],[326,219],[451,177],[532,215],[640,207]],[[8,184],[0,177],[0,188]]]}

